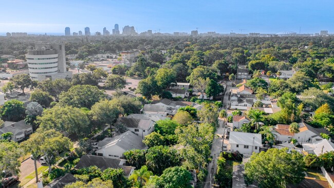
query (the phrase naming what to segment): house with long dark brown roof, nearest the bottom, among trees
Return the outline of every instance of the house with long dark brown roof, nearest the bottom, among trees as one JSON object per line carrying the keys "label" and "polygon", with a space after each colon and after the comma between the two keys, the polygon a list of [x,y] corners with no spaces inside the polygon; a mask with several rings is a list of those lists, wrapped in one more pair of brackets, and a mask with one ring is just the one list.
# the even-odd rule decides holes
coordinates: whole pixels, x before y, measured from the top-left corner
{"label": "house with long dark brown roof, nearest the bottom, among trees", "polygon": [[122,168],[124,171],[124,176],[129,177],[135,171],[135,167],[126,166],[125,159],[116,159],[102,156],[94,155],[83,155],[78,164],[75,166],[76,169],[85,168],[89,166],[97,166],[101,171],[106,170],[107,168]]}

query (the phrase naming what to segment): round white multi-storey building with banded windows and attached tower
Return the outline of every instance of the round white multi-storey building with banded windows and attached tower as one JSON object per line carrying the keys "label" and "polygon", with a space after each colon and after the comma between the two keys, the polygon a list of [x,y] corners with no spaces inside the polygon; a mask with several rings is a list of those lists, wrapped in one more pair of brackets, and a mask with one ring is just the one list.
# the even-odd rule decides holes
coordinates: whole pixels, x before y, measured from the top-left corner
{"label": "round white multi-storey building with banded windows and attached tower", "polygon": [[41,81],[72,76],[72,72],[66,71],[64,44],[35,44],[34,49],[28,50],[26,59],[32,79]]}

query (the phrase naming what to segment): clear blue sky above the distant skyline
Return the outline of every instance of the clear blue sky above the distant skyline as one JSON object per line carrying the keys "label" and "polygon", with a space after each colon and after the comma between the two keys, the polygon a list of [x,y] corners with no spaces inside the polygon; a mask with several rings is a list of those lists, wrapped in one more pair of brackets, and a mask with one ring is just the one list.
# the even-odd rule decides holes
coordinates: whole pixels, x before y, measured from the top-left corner
{"label": "clear blue sky above the distant skyline", "polygon": [[12,0],[0,2],[0,32],[112,32],[134,26],[137,32],[334,33],[333,0]]}

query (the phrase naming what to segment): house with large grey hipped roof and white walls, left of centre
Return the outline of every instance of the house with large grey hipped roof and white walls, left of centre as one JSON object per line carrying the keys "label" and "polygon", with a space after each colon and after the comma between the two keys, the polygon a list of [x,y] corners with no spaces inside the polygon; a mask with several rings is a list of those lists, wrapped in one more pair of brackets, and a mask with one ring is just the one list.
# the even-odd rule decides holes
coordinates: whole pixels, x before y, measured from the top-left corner
{"label": "house with large grey hipped roof and white walls, left of centre", "polygon": [[146,146],[142,137],[128,130],[116,137],[101,140],[97,147],[96,154],[98,156],[120,158],[128,150],[144,149]]}

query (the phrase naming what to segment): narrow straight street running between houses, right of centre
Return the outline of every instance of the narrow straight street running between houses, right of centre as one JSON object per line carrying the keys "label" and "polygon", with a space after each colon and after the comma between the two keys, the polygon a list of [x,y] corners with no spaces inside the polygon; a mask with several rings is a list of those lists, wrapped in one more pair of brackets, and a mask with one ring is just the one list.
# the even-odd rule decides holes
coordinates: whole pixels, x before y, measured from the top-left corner
{"label": "narrow straight street running between houses, right of centre", "polygon": [[[224,94],[224,99],[223,99],[223,108],[226,109],[229,104],[229,93],[230,93],[230,86],[231,82],[227,82],[227,87],[225,90]],[[205,188],[211,188],[212,184],[214,184],[214,175],[217,172],[217,158],[220,155],[220,151],[222,150],[222,135],[224,135],[227,132],[225,130],[225,122],[222,125],[219,125],[219,127],[216,130],[216,136],[215,139],[213,140],[212,143],[212,148],[211,148],[211,156],[212,156],[212,161],[208,164],[208,176],[206,178],[206,183],[205,183]],[[224,139],[224,143],[228,144],[228,140]]]}

